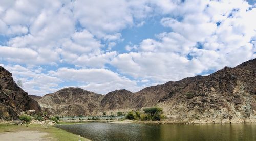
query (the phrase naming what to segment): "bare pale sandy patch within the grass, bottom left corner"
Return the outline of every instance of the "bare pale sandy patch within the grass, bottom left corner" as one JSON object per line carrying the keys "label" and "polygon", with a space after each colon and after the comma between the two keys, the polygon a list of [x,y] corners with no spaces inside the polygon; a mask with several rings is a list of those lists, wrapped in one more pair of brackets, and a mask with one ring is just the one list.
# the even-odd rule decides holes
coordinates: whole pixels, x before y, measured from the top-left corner
{"label": "bare pale sandy patch within the grass, bottom left corner", "polygon": [[52,140],[47,138],[48,133],[39,131],[18,131],[18,132],[4,132],[0,134],[1,140]]}

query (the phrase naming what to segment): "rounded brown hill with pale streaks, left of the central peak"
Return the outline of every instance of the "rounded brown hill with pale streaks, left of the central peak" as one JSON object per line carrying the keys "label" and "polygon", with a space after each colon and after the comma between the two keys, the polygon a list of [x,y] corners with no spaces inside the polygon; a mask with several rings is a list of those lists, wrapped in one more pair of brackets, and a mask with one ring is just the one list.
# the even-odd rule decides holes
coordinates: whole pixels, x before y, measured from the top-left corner
{"label": "rounded brown hill with pale streaks, left of the central peak", "polygon": [[41,97],[40,106],[59,115],[94,115],[104,96],[81,88],[65,88]]}

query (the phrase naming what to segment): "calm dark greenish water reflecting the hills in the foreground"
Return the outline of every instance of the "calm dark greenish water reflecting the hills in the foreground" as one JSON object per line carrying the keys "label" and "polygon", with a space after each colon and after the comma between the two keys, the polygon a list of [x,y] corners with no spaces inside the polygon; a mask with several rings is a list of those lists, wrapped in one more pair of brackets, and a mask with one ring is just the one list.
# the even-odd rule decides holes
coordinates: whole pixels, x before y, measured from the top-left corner
{"label": "calm dark greenish water reflecting the hills in the foreground", "polygon": [[113,124],[56,125],[91,140],[256,140],[256,124]]}

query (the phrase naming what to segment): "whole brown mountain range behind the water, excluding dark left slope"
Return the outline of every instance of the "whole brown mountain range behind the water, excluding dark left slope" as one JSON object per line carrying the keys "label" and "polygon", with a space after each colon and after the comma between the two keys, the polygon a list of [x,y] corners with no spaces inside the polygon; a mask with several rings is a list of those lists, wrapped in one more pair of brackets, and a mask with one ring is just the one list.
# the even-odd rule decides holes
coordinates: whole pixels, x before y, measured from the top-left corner
{"label": "whole brown mountain range behind the water, excluding dark left slope", "polygon": [[[132,93],[116,90],[100,95],[65,88],[40,98],[42,107],[60,115],[95,115],[143,107],[163,108],[168,120],[195,122],[256,122],[256,59],[208,76],[151,86]],[[127,111],[127,110],[126,110]]]}

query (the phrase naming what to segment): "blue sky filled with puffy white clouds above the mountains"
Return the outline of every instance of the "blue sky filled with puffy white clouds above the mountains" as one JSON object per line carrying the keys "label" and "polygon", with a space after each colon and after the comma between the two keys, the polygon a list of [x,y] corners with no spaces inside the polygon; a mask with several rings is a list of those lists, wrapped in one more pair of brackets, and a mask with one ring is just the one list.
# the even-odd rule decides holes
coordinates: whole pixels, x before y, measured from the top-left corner
{"label": "blue sky filled with puffy white clouds above the mountains", "polygon": [[242,0],[0,1],[0,66],[29,94],[99,94],[208,75],[256,58]]}

